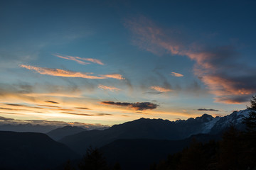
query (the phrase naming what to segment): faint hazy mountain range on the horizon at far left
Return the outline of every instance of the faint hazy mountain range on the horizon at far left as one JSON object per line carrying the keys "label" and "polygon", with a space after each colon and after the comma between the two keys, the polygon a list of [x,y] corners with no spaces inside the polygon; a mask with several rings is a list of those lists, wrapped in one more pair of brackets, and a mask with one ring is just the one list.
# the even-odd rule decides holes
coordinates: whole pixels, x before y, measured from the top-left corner
{"label": "faint hazy mountain range on the horizon at far left", "polygon": [[50,130],[57,128],[55,125],[32,125],[27,124],[18,124],[18,125],[0,125],[1,131],[14,131],[14,132],[42,132],[46,133]]}

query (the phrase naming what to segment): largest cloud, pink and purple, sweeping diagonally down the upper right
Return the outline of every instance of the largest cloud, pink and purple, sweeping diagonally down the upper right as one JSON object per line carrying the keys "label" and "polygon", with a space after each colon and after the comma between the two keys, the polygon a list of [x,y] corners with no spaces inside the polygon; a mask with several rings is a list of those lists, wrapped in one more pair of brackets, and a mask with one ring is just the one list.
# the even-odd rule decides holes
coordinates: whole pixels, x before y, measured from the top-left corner
{"label": "largest cloud, pink and purple, sweeping diagonally down the upper right", "polygon": [[235,47],[189,44],[181,32],[161,29],[143,16],[127,21],[126,26],[134,34],[134,45],[156,55],[169,53],[195,61],[194,74],[215,95],[216,102],[243,103],[256,93],[256,68],[242,64]]}

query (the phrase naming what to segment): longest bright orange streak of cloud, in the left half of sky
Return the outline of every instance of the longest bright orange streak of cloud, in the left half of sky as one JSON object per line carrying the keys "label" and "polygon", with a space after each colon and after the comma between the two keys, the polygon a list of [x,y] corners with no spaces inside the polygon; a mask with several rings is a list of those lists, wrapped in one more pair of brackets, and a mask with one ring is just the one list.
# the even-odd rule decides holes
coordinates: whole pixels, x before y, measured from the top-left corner
{"label": "longest bright orange streak of cloud, in the left half of sky", "polygon": [[45,74],[45,75],[50,75],[50,76],[55,76],[55,77],[80,77],[84,79],[107,79],[107,78],[112,78],[112,79],[124,79],[121,74],[103,74],[99,76],[92,76],[91,74],[93,73],[82,73],[82,72],[72,72],[69,70],[64,70],[64,69],[50,69],[50,68],[45,68],[45,67],[34,67],[30,65],[24,65],[21,64],[20,67],[25,68],[25,69],[30,69],[38,72],[39,74]]}

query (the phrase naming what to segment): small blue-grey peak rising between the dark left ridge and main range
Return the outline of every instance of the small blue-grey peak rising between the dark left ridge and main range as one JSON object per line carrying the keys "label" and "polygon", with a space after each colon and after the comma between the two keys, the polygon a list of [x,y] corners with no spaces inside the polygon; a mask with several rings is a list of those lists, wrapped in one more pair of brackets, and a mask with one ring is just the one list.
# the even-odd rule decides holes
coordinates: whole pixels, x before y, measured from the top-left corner
{"label": "small blue-grey peak rising between the dark left ridge and main range", "polygon": [[51,137],[53,140],[60,140],[63,137],[66,137],[68,135],[75,135],[76,133],[85,131],[84,128],[80,128],[77,126],[64,126],[63,128],[57,128],[55,130],[51,130],[47,133],[49,137]]}

